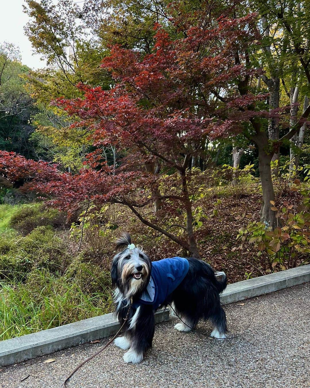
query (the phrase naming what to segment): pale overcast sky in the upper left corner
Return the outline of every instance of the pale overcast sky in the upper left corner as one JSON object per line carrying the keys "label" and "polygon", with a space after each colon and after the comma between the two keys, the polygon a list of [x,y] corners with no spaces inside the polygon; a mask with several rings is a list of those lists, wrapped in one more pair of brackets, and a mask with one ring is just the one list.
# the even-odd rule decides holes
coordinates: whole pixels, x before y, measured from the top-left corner
{"label": "pale overcast sky in the upper left corner", "polygon": [[[53,1],[57,3],[57,0]],[[22,8],[24,0],[0,0],[0,2],[0,43],[9,42],[19,46],[22,63],[29,68],[44,67],[45,62],[40,61],[40,55],[33,54],[31,43],[24,34],[24,25],[28,22],[28,16],[24,14]]]}

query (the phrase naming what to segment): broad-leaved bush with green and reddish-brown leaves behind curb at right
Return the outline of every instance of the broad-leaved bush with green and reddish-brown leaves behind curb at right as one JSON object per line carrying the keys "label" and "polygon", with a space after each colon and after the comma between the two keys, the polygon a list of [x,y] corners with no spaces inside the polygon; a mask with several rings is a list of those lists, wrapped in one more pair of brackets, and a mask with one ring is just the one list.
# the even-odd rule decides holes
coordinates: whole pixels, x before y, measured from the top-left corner
{"label": "broad-leaved bush with green and reddish-brown leaves behind curb at right", "polygon": [[250,222],[239,229],[240,248],[246,243],[253,248],[266,272],[310,263],[310,189],[299,192],[303,199],[298,208],[288,201],[277,207],[270,201],[279,227],[271,230],[265,223]]}

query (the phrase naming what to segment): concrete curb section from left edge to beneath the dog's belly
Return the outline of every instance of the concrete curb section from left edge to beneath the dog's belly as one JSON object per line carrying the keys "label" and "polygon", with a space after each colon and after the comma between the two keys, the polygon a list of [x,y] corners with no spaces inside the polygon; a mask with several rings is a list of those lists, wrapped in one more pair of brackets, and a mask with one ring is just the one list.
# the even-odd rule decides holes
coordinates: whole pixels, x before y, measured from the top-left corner
{"label": "concrete curb section from left edge to beneath the dog's belly", "polygon": [[[156,323],[166,320],[169,320],[168,309],[155,313]],[[0,366],[17,364],[58,350],[71,348],[71,346],[112,336],[117,333],[119,327],[119,322],[110,313],[0,341]]]}

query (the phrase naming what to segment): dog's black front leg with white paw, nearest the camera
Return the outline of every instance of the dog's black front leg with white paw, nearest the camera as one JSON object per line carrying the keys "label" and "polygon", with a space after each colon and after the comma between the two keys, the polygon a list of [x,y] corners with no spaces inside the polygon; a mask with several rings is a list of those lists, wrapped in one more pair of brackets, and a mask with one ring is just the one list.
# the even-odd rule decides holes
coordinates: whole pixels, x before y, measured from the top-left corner
{"label": "dog's black front leg with white paw, nearest the camera", "polygon": [[132,364],[139,364],[143,360],[144,352],[152,347],[155,331],[155,319],[152,306],[141,305],[137,311],[138,314],[134,326],[130,330],[130,349],[123,356],[125,362],[131,362]]}

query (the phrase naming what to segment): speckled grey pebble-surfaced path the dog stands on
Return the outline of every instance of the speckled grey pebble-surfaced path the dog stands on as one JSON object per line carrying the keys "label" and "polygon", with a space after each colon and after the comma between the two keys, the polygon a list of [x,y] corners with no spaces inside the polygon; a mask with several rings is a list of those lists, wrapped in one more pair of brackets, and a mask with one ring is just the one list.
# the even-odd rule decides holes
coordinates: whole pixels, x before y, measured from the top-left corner
{"label": "speckled grey pebble-surfaced path the dog stands on", "polygon": [[[218,341],[203,334],[210,333],[209,324],[179,333],[174,322],[166,322],[156,326],[142,364],[124,364],[124,351],[109,346],[67,387],[310,387],[310,283],[224,308],[229,328],[245,333]],[[69,372],[106,342],[7,367],[0,372],[0,387],[61,388]],[[49,358],[56,360],[43,364]]]}

